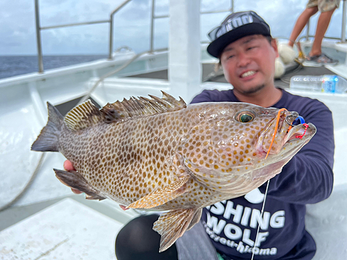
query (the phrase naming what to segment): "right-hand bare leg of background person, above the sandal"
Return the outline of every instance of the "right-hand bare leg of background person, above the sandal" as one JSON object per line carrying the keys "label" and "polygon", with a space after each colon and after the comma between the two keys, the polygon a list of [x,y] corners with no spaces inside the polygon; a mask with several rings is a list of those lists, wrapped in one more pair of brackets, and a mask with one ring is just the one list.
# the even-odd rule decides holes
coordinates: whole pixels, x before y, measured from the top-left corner
{"label": "right-hand bare leg of background person, above the sandal", "polygon": [[328,11],[321,12],[317,21],[316,35],[314,36],[314,42],[310,51],[310,56],[321,55],[322,53],[322,41],[323,37],[328,30],[330,19],[336,8]]}

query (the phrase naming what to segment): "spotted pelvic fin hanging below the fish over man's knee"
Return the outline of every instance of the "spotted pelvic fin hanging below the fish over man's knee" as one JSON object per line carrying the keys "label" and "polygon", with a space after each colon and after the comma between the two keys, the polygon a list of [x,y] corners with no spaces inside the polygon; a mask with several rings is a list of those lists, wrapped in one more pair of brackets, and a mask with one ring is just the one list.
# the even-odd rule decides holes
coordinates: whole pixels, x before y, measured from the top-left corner
{"label": "spotted pelvic fin hanging below the fish over man's knee", "polygon": [[153,230],[162,236],[159,252],[167,250],[186,230],[198,223],[201,212],[202,209],[178,209],[162,214],[153,225]]}

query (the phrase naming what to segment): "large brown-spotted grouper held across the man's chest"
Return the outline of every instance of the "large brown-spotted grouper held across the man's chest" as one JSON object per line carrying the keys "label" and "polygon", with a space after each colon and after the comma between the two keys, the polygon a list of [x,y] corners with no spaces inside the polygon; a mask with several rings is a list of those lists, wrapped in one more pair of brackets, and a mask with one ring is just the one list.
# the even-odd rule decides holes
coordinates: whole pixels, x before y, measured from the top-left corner
{"label": "large brown-spotted grouper held across the man's chest", "polygon": [[54,169],[56,177],[87,199],[165,211],[153,225],[160,252],[198,223],[203,207],[280,173],[316,132],[285,109],[150,97],[101,110],[86,101],[65,117],[47,103],[48,123],[31,150],[69,159],[76,171]]}

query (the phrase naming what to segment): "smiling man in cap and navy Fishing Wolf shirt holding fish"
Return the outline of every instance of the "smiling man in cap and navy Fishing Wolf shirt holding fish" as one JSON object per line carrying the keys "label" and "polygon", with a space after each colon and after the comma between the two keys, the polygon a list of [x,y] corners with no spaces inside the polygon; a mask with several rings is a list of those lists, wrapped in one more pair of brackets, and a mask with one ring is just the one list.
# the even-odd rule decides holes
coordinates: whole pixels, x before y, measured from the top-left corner
{"label": "smiling man in cap and navy Fishing Wolf shirt holding fish", "polygon": [[[232,87],[203,90],[192,103],[285,107],[316,125],[316,135],[270,180],[263,216],[266,184],[245,196],[204,208],[201,221],[161,253],[160,235],[152,229],[158,214],[139,216],[117,235],[117,259],[242,260],[251,259],[253,253],[254,259],[312,259],[316,244],[305,230],[305,205],[328,198],[332,191],[332,113],[320,101],[289,94],[274,85],[276,40],[255,12],[232,13],[209,37],[208,53],[219,59]],[[65,168],[73,166],[65,162]]]}

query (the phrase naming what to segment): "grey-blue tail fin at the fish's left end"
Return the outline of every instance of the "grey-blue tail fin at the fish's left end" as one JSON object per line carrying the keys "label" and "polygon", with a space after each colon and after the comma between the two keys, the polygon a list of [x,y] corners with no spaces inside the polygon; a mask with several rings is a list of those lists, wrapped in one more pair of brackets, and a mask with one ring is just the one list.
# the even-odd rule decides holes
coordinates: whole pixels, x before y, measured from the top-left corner
{"label": "grey-blue tail fin at the fish's left end", "polygon": [[51,103],[47,102],[48,122],[42,128],[40,135],[37,137],[31,146],[31,150],[40,152],[58,152],[59,151],[59,136],[64,117]]}

